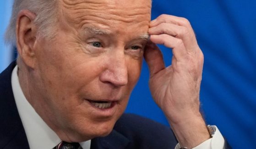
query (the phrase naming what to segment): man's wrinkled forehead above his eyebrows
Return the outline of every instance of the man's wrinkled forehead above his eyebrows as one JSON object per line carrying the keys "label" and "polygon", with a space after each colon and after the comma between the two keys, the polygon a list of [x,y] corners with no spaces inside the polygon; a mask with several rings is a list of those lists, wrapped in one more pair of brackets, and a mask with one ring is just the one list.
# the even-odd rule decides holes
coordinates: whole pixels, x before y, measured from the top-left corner
{"label": "man's wrinkled forehead above his eyebrows", "polygon": [[68,23],[125,28],[148,26],[151,0],[60,0]]}

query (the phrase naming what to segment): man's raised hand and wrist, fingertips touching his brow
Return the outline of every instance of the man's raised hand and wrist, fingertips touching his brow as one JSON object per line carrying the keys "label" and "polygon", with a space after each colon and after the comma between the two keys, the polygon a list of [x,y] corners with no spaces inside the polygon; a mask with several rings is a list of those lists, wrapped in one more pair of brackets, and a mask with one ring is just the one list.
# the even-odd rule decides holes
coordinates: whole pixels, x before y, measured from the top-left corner
{"label": "man's raised hand and wrist, fingertips touching his brow", "polygon": [[[144,57],[149,66],[149,86],[181,146],[195,147],[210,138],[199,111],[203,54],[185,18],[160,15],[152,21]],[[172,65],[165,67],[156,44],[172,48]]]}

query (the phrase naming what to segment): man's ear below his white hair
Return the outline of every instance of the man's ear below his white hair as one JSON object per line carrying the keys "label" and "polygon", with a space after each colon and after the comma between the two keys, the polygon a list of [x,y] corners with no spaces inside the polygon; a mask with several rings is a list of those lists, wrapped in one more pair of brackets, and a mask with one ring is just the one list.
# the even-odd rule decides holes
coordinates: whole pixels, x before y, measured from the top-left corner
{"label": "man's ear below his white hair", "polygon": [[16,45],[19,56],[28,67],[33,68],[37,29],[33,21],[36,15],[29,10],[21,10],[16,21]]}

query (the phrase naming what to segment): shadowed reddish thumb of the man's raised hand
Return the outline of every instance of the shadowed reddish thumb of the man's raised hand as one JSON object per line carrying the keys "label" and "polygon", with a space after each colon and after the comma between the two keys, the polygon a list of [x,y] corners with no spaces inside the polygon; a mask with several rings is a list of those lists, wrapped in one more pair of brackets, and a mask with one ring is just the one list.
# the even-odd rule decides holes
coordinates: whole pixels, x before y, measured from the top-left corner
{"label": "shadowed reddish thumb of the man's raised hand", "polygon": [[162,52],[159,50],[158,46],[152,42],[148,43],[145,47],[144,58],[149,68],[150,77],[153,77],[154,74],[165,68]]}

